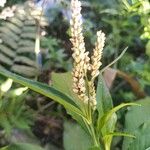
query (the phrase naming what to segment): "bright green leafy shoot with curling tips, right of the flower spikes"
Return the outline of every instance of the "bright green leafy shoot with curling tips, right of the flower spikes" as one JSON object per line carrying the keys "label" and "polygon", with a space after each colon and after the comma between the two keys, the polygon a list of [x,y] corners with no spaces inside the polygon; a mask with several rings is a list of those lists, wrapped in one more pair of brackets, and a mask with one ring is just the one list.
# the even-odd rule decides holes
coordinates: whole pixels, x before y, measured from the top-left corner
{"label": "bright green leafy shoot with curling tips, right of the flower spikes", "polygon": [[[135,103],[121,104],[113,108],[112,99],[109,91],[105,85],[103,77],[100,75],[97,87],[97,110],[99,117],[97,121],[97,132],[102,135],[105,149],[109,150],[113,136],[115,136],[114,129],[116,125],[116,112],[125,106],[137,105]],[[110,134],[112,133],[112,134]],[[117,135],[125,135],[119,133]]]}

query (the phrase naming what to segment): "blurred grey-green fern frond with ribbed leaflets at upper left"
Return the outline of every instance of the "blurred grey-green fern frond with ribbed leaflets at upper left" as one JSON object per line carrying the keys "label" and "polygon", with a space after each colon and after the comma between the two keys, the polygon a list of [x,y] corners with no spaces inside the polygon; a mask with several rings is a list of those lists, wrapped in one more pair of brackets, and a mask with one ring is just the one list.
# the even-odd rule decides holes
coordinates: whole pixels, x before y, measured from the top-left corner
{"label": "blurred grey-green fern frond with ribbed leaflets at upper left", "polygon": [[[34,10],[28,3],[25,3],[24,6],[16,5],[13,17],[8,17],[5,21],[1,20],[1,67],[26,77],[34,77],[38,74],[35,39],[39,15],[39,10]],[[41,25],[44,25],[44,21]]]}

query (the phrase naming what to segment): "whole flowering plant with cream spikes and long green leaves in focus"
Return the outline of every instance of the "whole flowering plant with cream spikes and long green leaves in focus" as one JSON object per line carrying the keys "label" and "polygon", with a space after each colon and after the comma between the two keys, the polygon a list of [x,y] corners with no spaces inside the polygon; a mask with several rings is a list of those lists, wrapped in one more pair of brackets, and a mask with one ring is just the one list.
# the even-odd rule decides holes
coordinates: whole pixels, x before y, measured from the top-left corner
{"label": "whole flowering plant with cream spikes and long green leaves in focus", "polygon": [[[90,149],[110,150],[113,136],[134,137],[114,132],[117,121],[115,112],[122,107],[137,104],[126,103],[113,108],[111,96],[99,71],[102,65],[105,34],[102,31],[97,32],[95,48],[90,58],[85,49],[79,0],[71,1],[71,10],[70,26],[74,59],[72,73],[53,73],[52,86],[23,78],[4,69],[0,69],[0,74],[63,105],[90,136],[92,140]],[[96,77],[98,77],[97,88]]]}

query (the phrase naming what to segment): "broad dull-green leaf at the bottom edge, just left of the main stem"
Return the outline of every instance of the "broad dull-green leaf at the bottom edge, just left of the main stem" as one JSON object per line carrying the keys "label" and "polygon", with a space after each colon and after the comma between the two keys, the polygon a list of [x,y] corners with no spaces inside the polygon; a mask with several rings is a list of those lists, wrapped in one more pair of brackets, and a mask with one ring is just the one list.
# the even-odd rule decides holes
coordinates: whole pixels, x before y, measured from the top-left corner
{"label": "broad dull-green leaf at the bottom edge, just left of the main stem", "polygon": [[63,140],[65,150],[88,150],[92,146],[86,132],[79,125],[71,122],[64,124]]}

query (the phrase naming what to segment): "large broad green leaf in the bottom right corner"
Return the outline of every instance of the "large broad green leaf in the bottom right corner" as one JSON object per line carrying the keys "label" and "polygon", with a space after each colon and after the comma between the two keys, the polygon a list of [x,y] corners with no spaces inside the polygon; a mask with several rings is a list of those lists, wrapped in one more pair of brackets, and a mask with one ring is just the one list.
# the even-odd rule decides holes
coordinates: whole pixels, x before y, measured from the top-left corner
{"label": "large broad green leaf in the bottom right corner", "polygon": [[124,138],[123,150],[145,150],[150,147],[150,98],[136,103],[141,107],[130,107],[125,117],[125,132],[136,136],[136,139]]}

